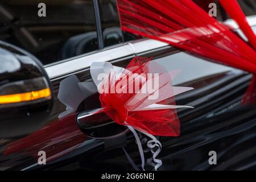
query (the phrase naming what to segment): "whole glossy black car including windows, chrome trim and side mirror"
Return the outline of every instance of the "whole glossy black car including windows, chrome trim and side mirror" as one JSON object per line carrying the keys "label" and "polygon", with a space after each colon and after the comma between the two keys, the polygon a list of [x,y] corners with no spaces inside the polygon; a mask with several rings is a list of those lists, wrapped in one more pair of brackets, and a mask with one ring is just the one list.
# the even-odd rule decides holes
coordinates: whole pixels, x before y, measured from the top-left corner
{"label": "whole glossy black car including windows, chrome trim and side mirror", "polygon": [[[256,32],[255,1],[241,3]],[[237,24],[218,13],[243,38]],[[158,137],[160,170],[256,169],[256,107],[241,104],[251,75],[119,27],[114,0],[0,2],[0,170],[133,170],[123,148],[139,166],[125,126],[102,115],[83,117],[101,106],[90,65],[126,67],[134,56],[182,69],[172,84],[195,88],[176,97],[177,105],[195,107],[177,109],[180,136]],[[17,93],[24,100],[15,102]]]}

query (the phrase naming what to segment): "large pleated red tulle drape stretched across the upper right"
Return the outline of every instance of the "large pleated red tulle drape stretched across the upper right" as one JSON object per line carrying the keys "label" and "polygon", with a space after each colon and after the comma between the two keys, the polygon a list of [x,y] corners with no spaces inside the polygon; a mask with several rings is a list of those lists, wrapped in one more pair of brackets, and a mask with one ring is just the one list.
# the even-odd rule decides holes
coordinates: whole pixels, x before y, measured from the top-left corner
{"label": "large pleated red tulle drape stretched across the upper right", "polygon": [[[117,2],[123,31],[160,40],[211,61],[256,73],[255,50],[192,0]],[[234,2],[223,0],[222,4],[226,5],[224,7],[229,9],[229,13],[233,12],[233,18],[243,25],[242,30],[254,45],[255,35],[246,24],[245,16],[241,12],[235,15],[239,5]]]}

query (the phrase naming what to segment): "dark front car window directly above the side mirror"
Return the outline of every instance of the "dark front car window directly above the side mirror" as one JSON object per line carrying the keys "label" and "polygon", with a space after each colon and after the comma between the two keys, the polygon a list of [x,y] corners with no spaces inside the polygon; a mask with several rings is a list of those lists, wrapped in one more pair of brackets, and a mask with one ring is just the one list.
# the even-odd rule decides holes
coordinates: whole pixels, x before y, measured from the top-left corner
{"label": "dark front car window directly above the side mirror", "polygon": [[0,40],[26,49],[43,64],[98,47],[92,0],[1,1],[0,32]]}

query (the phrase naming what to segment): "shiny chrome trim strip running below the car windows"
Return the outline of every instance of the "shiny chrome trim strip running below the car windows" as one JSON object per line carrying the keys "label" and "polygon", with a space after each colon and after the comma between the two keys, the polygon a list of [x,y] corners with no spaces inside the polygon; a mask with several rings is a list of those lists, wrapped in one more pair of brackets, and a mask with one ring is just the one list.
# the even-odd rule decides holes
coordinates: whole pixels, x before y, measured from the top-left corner
{"label": "shiny chrome trim strip running below the car windows", "polygon": [[[250,26],[256,26],[256,15],[247,16],[247,20]],[[234,29],[238,28],[238,25],[233,20],[226,20],[224,22]],[[48,73],[49,78],[55,79],[64,75],[71,74],[73,72],[79,72],[83,69],[89,68],[94,61],[111,61],[119,59],[121,57],[132,56],[134,54],[152,51],[163,47],[170,47],[169,44],[159,42],[158,40],[152,39],[141,39],[135,40],[128,43],[119,44],[118,46],[108,47],[89,55],[81,55],[73,57],[71,60],[60,61],[57,64],[46,65],[45,69]]]}

